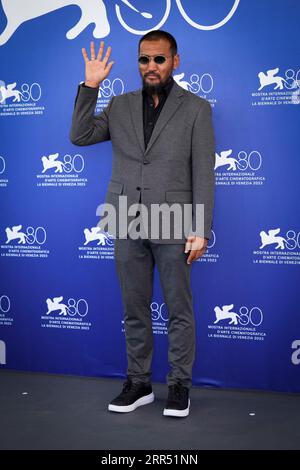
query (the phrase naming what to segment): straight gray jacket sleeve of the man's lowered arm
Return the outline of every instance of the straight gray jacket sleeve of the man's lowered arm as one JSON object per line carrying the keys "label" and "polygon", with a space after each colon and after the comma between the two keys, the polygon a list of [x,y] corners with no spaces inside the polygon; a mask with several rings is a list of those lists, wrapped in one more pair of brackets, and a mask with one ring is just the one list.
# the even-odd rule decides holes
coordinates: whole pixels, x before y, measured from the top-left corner
{"label": "straight gray jacket sleeve of the man's lowered arm", "polygon": [[[211,237],[215,191],[215,137],[212,111],[208,101],[202,104],[194,122],[192,134],[193,225],[195,235]],[[196,230],[196,204],[203,204],[204,226]],[[200,211],[201,212],[201,211]]]}

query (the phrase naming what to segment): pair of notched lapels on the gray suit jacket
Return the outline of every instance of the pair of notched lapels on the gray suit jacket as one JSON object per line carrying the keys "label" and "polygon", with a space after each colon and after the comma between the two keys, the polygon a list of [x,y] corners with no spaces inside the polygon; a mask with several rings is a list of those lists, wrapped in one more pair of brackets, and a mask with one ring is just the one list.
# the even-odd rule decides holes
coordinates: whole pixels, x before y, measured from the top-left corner
{"label": "pair of notched lapels on the gray suit jacket", "polygon": [[137,139],[145,155],[149,152],[150,148],[158,138],[159,134],[169,121],[177,108],[182,103],[182,97],[184,92],[182,88],[174,82],[170,94],[164,104],[163,109],[158,117],[158,120],[153,129],[150,141],[145,151],[145,142],[144,142],[144,124],[143,124],[143,94],[142,90],[134,92],[130,99],[130,109],[132,113],[132,121],[137,135]]}

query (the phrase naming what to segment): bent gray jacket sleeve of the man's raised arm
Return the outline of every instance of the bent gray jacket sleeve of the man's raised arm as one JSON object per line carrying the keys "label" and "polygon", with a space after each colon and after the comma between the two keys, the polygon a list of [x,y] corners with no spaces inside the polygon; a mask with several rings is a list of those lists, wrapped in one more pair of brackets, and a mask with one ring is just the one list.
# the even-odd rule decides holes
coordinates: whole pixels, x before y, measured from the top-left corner
{"label": "bent gray jacket sleeve of the man's raised arm", "polygon": [[74,145],[92,145],[110,140],[108,115],[113,99],[98,115],[94,115],[98,88],[78,86],[72,116],[70,140]]}

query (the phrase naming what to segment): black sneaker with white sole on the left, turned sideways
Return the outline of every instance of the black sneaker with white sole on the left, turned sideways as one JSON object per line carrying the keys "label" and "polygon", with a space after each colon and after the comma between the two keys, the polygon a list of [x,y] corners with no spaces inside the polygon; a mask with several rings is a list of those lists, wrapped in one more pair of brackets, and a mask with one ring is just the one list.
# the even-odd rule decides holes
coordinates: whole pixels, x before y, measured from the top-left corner
{"label": "black sneaker with white sole on the left, turned sideways", "polygon": [[133,383],[128,379],[123,384],[123,390],[108,405],[109,411],[117,413],[129,413],[139,406],[148,405],[154,401],[151,384],[143,382]]}

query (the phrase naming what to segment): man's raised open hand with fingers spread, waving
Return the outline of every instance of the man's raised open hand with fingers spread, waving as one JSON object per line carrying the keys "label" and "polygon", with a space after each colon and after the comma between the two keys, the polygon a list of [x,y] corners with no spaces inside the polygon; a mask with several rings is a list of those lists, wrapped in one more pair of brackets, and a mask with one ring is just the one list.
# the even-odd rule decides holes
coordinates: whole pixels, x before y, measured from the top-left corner
{"label": "man's raised open hand with fingers spread, waving", "polygon": [[85,62],[85,84],[97,88],[100,83],[108,76],[114,61],[108,62],[111,54],[111,47],[107,48],[106,54],[102,59],[104,51],[104,41],[101,41],[99,52],[95,54],[94,41],[91,41],[91,58],[88,58],[85,48],[82,48],[82,55]]}

